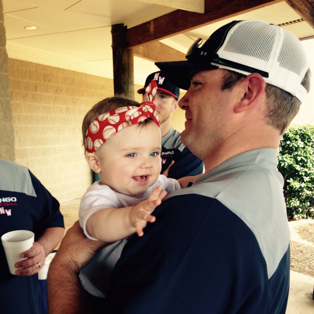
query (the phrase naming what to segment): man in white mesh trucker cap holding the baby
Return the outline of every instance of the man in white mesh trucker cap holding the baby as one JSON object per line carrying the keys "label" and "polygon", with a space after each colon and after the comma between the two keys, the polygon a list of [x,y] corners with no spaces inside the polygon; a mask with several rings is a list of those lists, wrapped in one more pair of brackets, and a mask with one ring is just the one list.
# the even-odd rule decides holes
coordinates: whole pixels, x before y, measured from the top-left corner
{"label": "man in white mesh trucker cap holding the baby", "polygon": [[[130,238],[103,312],[285,313],[290,232],[277,149],[309,90],[299,40],[262,21],[233,21],[203,46],[196,42],[186,61],[157,66],[187,89],[181,139],[205,174],[155,209],[145,236]],[[74,227],[72,236],[87,245]],[[71,253],[65,239],[62,250]],[[69,263],[86,262],[85,255]]]}

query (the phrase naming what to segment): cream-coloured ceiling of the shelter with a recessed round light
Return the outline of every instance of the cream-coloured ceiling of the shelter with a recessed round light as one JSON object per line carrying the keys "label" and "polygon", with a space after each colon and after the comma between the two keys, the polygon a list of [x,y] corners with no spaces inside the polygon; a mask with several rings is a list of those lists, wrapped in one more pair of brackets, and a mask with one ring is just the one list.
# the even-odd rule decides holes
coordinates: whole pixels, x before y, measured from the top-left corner
{"label": "cream-coloured ceiling of the shelter with a recessed round light", "polygon": [[[177,8],[202,11],[202,1],[193,2],[199,7],[191,8],[189,0],[168,1],[172,7],[160,0],[3,0],[8,57],[113,78],[111,25],[122,23],[128,30],[135,29],[137,25],[174,13]],[[235,19],[286,24],[283,27],[300,39],[313,36],[313,24],[303,20],[305,17],[291,7],[291,1],[290,5],[284,1],[268,1],[267,5],[259,5],[250,12],[215,20],[160,42],[185,53],[196,38],[206,40],[214,30]],[[234,2],[225,3],[232,6]],[[311,2],[299,1],[306,3],[314,16]],[[224,8],[223,1],[220,3]],[[38,29],[26,30],[26,26]],[[154,62],[134,57],[134,83],[143,84],[147,74],[155,70],[158,68]]]}

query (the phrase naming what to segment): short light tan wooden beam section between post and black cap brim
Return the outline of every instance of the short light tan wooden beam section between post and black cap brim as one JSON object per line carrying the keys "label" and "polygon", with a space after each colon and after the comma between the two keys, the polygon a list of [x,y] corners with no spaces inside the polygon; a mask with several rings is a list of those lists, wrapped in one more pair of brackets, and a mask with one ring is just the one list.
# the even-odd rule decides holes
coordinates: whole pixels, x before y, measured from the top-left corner
{"label": "short light tan wooden beam section between post and black cap brim", "polygon": [[[162,53],[160,53],[162,51]],[[139,46],[133,49],[134,56],[153,62],[185,60],[185,53],[177,51],[159,41]]]}

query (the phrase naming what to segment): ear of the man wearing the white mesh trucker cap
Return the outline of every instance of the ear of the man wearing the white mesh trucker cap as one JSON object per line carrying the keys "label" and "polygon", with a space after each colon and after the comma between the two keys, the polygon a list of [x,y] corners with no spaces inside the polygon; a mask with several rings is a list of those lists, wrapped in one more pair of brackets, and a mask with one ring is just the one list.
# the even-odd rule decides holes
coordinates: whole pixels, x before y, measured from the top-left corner
{"label": "ear of the man wearing the white mesh trucker cap", "polygon": [[258,73],[248,75],[240,84],[243,88],[242,98],[234,108],[236,113],[252,108],[264,94],[266,87],[263,77]]}

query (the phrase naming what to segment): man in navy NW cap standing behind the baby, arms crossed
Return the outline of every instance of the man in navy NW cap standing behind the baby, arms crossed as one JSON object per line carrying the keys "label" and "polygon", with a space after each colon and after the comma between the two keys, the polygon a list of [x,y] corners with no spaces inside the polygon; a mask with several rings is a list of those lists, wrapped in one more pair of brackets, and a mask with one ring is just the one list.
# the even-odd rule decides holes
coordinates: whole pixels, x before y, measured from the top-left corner
{"label": "man in navy NW cap standing behind the baby, arms crossed", "polygon": [[[180,139],[181,133],[171,127],[171,115],[176,111],[180,90],[160,72],[149,74],[143,88],[138,89],[146,101],[145,88],[151,80],[157,83],[157,92],[153,102],[160,118],[161,132],[161,174],[169,178],[180,179],[203,173],[203,162],[185,147]],[[167,173],[165,173],[165,171]]]}

